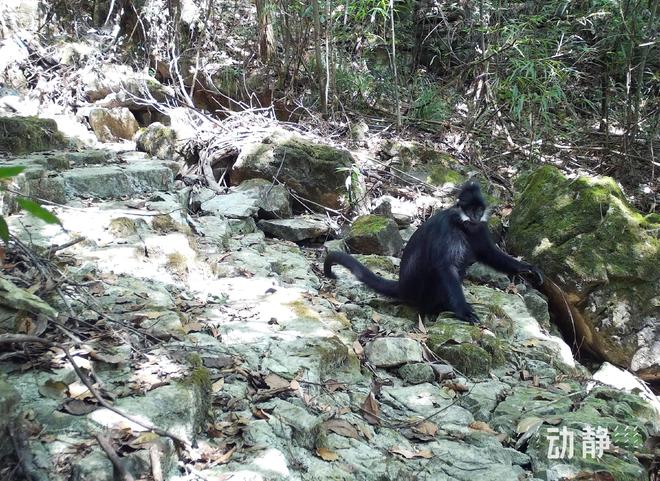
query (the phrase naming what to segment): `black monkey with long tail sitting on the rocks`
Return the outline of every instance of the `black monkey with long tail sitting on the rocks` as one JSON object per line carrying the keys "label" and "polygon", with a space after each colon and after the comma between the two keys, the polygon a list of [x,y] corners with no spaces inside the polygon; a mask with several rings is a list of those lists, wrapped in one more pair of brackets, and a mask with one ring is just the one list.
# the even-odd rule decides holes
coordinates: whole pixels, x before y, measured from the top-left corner
{"label": "black monkey with long tail sitting on the rocks", "polygon": [[459,319],[478,323],[462,287],[465,271],[475,261],[507,274],[532,273],[543,283],[537,267],[514,259],[495,245],[487,217],[479,184],[469,181],[461,187],[454,207],[433,215],[410,238],[401,257],[398,281],[383,279],[354,257],[336,251],[328,253],[323,271],[334,278],[332,266],[342,265],[374,291],[411,304],[423,315],[435,317],[452,311]]}

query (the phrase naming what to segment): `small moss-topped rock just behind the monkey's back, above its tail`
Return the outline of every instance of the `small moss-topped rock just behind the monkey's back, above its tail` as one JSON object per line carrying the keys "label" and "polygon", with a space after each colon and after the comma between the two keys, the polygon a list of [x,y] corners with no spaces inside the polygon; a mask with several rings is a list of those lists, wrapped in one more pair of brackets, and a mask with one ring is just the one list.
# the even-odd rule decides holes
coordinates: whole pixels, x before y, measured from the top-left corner
{"label": "small moss-topped rock just behind the monkey's back, above its tail", "polygon": [[381,215],[365,215],[353,222],[346,245],[361,254],[394,255],[403,247],[403,239],[394,220]]}

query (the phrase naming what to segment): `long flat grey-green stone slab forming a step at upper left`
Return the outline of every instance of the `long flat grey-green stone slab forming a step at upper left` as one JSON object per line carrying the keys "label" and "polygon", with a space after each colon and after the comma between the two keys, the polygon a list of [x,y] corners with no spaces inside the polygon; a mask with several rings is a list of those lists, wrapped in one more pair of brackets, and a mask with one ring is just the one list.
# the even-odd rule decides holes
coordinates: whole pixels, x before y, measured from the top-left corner
{"label": "long flat grey-green stone slab forming a step at upper left", "polygon": [[62,174],[67,197],[109,199],[170,190],[172,170],[160,162],[72,169]]}

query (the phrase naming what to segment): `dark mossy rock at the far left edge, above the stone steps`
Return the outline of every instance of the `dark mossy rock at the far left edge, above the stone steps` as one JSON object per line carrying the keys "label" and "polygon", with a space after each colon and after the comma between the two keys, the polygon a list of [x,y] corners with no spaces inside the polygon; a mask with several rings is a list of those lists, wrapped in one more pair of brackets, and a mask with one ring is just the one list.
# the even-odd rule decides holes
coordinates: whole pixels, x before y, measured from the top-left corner
{"label": "dark mossy rock at the far left edge, above the stone steps", "polygon": [[29,154],[55,150],[67,144],[52,119],[38,117],[0,117],[0,151]]}

